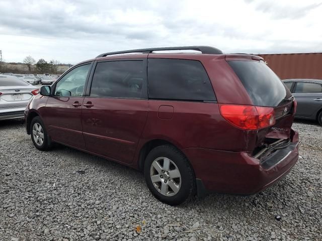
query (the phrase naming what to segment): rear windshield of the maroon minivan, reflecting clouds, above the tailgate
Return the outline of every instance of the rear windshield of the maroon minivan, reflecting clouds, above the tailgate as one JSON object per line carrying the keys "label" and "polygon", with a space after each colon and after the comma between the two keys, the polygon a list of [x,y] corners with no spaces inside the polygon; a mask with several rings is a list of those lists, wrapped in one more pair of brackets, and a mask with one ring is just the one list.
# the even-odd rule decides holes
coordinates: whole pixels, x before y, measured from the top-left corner
{"label": "rear windshield of the maroon minivan, reflecting clouds, above the tailgate", "polygon": [[280,78],[263,61],[228,61],[254,105],[277,106],[286,97]]}

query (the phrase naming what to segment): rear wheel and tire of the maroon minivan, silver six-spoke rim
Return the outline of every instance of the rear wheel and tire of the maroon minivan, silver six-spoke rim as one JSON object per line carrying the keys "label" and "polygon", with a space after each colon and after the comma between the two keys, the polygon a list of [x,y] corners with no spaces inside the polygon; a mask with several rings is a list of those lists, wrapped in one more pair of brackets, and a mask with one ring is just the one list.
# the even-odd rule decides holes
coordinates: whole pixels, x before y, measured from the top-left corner
{"label": "rear wheel and tire of the maroon minivan, silver six-spoke rim", "polygon": [[144,178],[150,192],[169,205],[182,204],[195,194],[193,169],[188,159],[171,145],[158,146],[149,152],[144,162]]}

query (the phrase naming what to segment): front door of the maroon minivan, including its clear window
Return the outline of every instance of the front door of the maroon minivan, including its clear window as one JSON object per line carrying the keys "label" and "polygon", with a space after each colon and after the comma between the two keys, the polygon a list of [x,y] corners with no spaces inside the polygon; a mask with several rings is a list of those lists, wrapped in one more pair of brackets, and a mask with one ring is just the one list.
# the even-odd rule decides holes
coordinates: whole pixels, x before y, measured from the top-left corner
{"label": "front door of the maroon minivan, including its clear window", "polygon": [[85,149],[82,104],[91,66],[87,63],[74,67],[53,86],[53,96],[48,98],[43,114],[53,141]]}

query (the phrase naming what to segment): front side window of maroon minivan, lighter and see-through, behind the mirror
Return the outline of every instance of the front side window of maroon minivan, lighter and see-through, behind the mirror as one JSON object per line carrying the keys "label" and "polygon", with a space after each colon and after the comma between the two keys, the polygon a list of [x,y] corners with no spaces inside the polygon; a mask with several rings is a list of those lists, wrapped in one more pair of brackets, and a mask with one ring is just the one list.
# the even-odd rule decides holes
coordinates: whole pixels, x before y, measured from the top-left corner
{"label": "front side window of maroon minivan, lighter and see-through, behind the mirror", "polygon": [[90,64],[74,68],[57,83],[55,96],[83,96],[83,90]]}

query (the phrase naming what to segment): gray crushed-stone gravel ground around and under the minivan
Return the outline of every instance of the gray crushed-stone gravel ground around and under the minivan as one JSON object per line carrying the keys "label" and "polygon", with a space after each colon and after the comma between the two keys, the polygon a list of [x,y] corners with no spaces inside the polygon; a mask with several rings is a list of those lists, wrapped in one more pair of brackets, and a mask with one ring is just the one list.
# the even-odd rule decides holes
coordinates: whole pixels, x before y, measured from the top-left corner
{"label": "gray crushed-stone gravel ground around and under the minivan", "polygon": [[301,158],[276,185],[172,207],[133,169],[63,146],[40,152],[21,122],[0,122],[0,240],[322,240],[322,128],[293,126]]}

